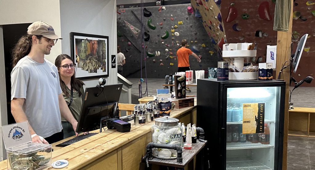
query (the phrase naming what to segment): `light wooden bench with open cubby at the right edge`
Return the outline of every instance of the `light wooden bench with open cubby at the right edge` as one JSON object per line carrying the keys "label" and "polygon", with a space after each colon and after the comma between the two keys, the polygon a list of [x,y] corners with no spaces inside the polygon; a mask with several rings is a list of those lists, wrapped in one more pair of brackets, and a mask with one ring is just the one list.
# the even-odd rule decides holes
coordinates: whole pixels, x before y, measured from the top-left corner
{"label": "light wooden bench with open cubby at the right edge", "polygon": [[315,138],[315,108],[289,110],[289,136]]}

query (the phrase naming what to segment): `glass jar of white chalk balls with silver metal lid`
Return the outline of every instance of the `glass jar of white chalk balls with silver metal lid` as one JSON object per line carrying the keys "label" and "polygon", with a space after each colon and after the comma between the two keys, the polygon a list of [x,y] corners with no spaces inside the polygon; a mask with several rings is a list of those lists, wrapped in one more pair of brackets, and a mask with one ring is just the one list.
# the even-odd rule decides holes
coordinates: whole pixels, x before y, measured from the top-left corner
{"label": "glass jar of white chalk balls with silver metal lid", "polygon": [[[170,118],[169,116],[155,119],[155,124],[151,127],[152,142],[157,144],[177,144],[183,147],[182,128],[178,123],[178,119]],[[152,155],[162,159],[175,159],[177,152],[174,149],[153,148]]]}

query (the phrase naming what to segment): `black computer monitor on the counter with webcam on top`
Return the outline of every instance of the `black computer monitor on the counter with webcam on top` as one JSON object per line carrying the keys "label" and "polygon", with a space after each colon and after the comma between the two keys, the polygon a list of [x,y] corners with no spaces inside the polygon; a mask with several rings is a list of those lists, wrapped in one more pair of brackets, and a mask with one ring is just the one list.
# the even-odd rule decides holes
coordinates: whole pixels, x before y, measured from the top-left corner
{"label": "black computer monitor on the counter with webcam on top", "polygon": [[114,118],[123,84],[85,88],[76,132],[100,128],[100,120]]}

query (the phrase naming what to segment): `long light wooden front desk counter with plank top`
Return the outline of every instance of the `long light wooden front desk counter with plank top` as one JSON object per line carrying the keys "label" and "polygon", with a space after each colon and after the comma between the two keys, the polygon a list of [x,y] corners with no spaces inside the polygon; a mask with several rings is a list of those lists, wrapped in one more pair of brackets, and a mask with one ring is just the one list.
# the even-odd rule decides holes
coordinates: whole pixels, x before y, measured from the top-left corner
{"label": "long light wooden front desk counter with plank top", "polygon": [[[172,110],[170,117],[180,120],[181,123],[196,123],[196,106]],[[141,158],[146,153],[146,145],[151,142],[151,126],[131,125],[130,132],[107,130],[92,137],[76,142],[66,147],[56,147],[52,144],[52,162],[66,159],[69,165],[63,169],[106,169],[106,170],[138,170]],[[95,132],[99,132],[96,130]],[[73,138],[73,137],[71,137]],[[7,169],[7,160],[0,162],[0,170]],[[45,169],[54,169],[51,166]]]}

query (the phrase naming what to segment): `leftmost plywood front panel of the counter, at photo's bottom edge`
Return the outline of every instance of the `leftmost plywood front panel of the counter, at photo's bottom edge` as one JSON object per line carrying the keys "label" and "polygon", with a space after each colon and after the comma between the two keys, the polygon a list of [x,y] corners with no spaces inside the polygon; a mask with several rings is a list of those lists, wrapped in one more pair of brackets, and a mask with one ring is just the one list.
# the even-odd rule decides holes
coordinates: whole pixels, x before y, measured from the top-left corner
{"label": "leftmost plywood front panel of the counter, at photo's bottom edge", "polygon": [[118,170],[117,169],[117,151],[113,151],[102,158],[90,163],[88,166],[83,167],[82,170]]}

